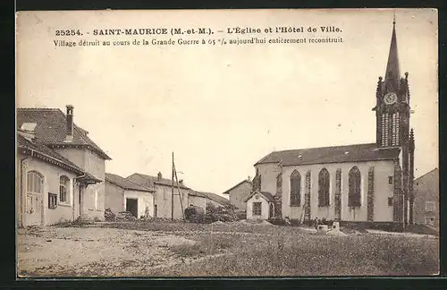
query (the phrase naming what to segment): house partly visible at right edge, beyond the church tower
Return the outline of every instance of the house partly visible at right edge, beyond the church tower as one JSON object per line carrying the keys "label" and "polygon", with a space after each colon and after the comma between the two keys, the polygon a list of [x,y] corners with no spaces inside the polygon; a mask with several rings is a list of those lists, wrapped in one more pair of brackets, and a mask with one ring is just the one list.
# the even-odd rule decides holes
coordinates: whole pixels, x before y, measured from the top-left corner
{"label": "house partly visible at right edge, beyond the church tower", "polygon": [[415,223],[439,229],[439,169],[415,180]]}

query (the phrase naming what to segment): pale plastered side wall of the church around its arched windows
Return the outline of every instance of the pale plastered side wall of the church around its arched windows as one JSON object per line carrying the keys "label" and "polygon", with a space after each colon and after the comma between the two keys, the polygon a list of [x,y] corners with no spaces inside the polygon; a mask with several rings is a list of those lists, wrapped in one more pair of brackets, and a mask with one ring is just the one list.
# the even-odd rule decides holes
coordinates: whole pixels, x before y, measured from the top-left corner
{"label": "pale plastered side wall of the church around its arched windows", "polygon": [[[361,206],[350,209],[348,207],[349,192],[349,172],[352,166],[358,166],[361,173]],[[358,163],[329,163],[314,164],[304,166],[284,166],[283,167],[283,218],[301,218],[305,204],[306,173],[310,170],[310,218],[335,219],[335,177],[337,168],[342,169],[342,208],[341,216],[343,221],[367,221],[367,190],[368,190],[368,170],[370,166],[375,167],[374,175],[374,221],[391,222],[392,206],[388,206],[388,197],[393,196],[393,184],[388,183],[388,177],[394,174],[392,160],[369,161]],[[330,203],[328,207],[318,207],[318,174],[321,169],[326,168],[330,175]],[[275,194],[276,175],[281,168],[276,164],[257,165],[259,174],[262,175],[262,191]],[[291,173],[299,171],[301,175],[300,206],[290,206]]]}

